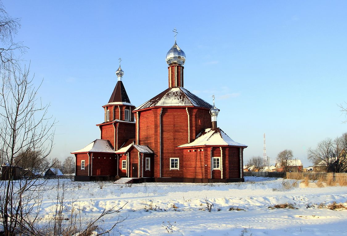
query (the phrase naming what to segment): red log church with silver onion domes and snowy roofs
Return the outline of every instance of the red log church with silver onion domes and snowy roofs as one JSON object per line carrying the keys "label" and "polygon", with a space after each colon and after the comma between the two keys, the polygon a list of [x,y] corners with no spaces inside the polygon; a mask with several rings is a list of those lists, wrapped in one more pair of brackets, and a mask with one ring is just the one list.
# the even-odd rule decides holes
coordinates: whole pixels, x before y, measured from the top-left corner
{"label": "red log church with silver onion domes and snowy roofs", "polygon": [[243,178],[243,150],[217,126],[219,110],[184,88],[186,56],[175,44],[166,55],[168,85],[135,107],[123,70],[97,124],[100,139],[71,152],[76,181],[136,178],[156,182],[235,182]]}

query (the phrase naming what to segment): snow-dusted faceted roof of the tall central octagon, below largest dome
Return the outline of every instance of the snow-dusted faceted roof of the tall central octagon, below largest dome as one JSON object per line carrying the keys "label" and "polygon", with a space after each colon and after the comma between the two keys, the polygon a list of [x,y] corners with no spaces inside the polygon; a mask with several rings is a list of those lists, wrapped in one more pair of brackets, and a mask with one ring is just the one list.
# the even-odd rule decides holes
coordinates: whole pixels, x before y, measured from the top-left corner
{"label": "snow-dusted faceted roof of the tall central octagon, below largest dome", "polygon": [[200,97],[192,94],[183,87],[168,88],[144,104],[138,106],[134,111],[154,106],[197,106],[212,108],[212,105]]}

